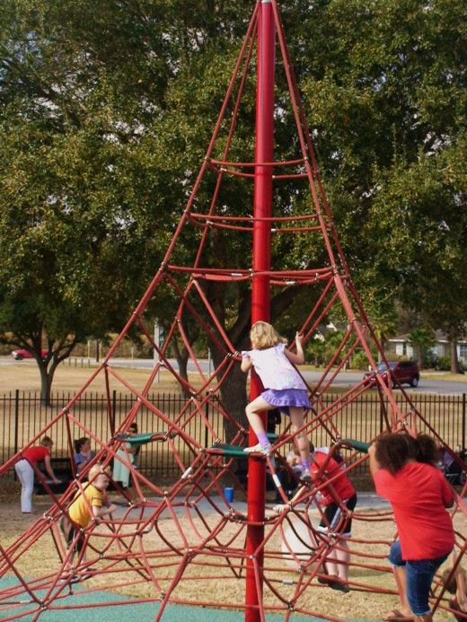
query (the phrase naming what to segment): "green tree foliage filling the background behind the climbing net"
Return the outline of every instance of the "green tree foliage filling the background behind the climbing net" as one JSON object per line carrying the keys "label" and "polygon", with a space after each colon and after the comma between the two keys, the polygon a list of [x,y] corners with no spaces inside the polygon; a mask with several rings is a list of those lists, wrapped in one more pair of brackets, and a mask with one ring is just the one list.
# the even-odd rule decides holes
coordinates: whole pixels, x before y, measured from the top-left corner
{"label": "green tree foliage filling the background behind the climbing net", "polygon": [[[122,328],[159,267],[252,9],[244,0],[4,0],[0,337],[36,352],[43,392],[75,343]],[[317,0],[279,11],[339,240],[367,311],[391,317],[400,301],[428,326],[463,337],[465,3]],[[279,66],[277,77],[280,158],[297,145]],[[254,97],[253,81],[231,152],[243,161],[254,153]],[[202,188],[199,200],[211,191]],[[252,205],[241,180],[225,183],[220,198],[233,214]],[[274,200],[278,212],[301,213],[310,197],[290,183]],[[320,264],[315,242],[312,235],[275,241],[273,262]],[[211,261],[248,265],[251,250],[240,237],[215,245],[223,254]],[[188,260],[194,247],[187,237],[178,252]],[[216,286],[208,295],[240,344],[249,289]],[[271,317],[283,326],[300,320],[294,298],[273,295]],[[176,304],[168,294],[151,312],[163,324]],[[41,364],[44,336],[55,354]]]}

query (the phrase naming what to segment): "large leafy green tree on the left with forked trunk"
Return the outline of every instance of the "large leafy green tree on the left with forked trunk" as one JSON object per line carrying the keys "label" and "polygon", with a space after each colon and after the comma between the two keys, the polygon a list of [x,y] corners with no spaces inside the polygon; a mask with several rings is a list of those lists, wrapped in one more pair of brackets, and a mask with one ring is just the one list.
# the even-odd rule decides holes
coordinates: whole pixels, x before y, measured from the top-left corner
{"label": "large leafy green tree on the left with forked trunk", "polygon": [[123,327],[170,239],[143,125],[167,57],[148,62],[156,24],[116,8],[7,0],[0,16],[0,338],[33,352],[44,399],[76,343]]}

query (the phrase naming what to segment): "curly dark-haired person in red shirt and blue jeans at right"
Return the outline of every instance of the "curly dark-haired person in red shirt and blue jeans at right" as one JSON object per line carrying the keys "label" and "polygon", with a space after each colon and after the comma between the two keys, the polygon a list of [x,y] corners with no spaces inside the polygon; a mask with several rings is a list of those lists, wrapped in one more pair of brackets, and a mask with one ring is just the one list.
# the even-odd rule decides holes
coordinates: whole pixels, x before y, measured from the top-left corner
{"label": "curly dark-haired person in red shirt and blue jeans at right", "polygon": [[427,434],[385,434],[368,450],[376,493],[392,504],[399,540],[389,561],[401,585],[401,609],[386,620],[431,622],[430,586],[454,547],[453,522],[445,508],[454,498],[436,468],[436,443]]}

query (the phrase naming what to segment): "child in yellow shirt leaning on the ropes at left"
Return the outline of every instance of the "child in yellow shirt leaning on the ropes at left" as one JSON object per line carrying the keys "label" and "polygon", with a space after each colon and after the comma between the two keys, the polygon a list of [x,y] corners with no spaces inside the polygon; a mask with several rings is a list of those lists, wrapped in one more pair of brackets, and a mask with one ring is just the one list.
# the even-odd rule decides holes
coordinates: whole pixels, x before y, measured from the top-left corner
{"label": "child in yellow shirt leaning on the ropes at left", "polygon": [[[75,552],[82,553],[80,563],[86,561],[84,545],[85,538],[83,530],[89,525],[89,523],[105,514],[111,514],[117,510],[117,505],[110,504],[108,507],[102,507],[102,491],[109,486],[109,473],[102,469],[101,464],[94,464],[89,470],[89,484],[84,485],[83,491],[79,491],[75,495],[75,499],[68,508],[68,515],[70,520],[64,516],[60,522],[60,527],[66,539],[66,544],[70,547],[75,540],[75,547],[71,556],[66,563],[66,570],[69,572],[72,569],[73,558]],[[75,578],[75,581],[88,578],[89,575],[84,575]],[[64,578],[67,581],[69,577]],[[73,581],[73,579],[72,579]]]}

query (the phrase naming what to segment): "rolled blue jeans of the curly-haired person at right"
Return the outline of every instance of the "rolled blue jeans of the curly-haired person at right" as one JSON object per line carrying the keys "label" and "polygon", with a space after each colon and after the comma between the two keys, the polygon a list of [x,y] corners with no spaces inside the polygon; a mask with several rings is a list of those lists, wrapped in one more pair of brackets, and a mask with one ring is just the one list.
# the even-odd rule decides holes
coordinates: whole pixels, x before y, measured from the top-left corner
{"label": "rolled blue jeans of the curly-haired person at right", "polygon": [[426,616],[430,612],[429,589],[436,570],[447,559],[449,553],[435,559],[402,559],[401,543],[394,542],[388,559],[398,568],[405,566],[407,581],[407,600],[414,616]]}

